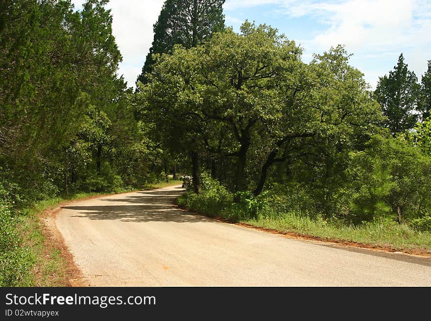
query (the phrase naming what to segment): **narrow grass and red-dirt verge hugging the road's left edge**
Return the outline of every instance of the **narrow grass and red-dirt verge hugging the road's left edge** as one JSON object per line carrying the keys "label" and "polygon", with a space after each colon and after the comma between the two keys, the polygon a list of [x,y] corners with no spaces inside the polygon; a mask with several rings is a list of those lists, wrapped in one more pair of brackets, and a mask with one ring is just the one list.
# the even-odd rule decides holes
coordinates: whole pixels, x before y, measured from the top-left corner
{"label": "narrow grass and red-dirt verge hugging the road's left edge", "polygon": [[[181,184],[182,181],[170,180],[169,183],[149,184],[141,190],[152,190],[172,185]],[[126,193],[130,191],[118,191]],[[19,216],[17,229],[22,238],[22,247],[26,253],[27,266],[21,281],[14,286],[67,286],[66,275],[68,273],[68,262],[62,255],[58,244],[52,244],[47,235],[42,214],[47,210],[58,207],[61,203],[85,199],[106,193],[75,193],[73,195],[55,197],[39,201],[33,206],[24,209],[23,215]]]}

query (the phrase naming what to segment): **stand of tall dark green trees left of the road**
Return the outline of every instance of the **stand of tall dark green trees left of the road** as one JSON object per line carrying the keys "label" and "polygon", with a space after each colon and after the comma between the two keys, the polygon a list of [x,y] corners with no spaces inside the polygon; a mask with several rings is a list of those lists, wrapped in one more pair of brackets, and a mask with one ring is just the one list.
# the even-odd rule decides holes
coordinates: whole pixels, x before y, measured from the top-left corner
{"label": "stand of tall dark green trees left of the road", "polygon": [[121,168],[118,156],[142,139],[116,74],[106,3],[88,0],[80,11],[68,0],[0,3],[0,178],[23,194],[49,197],[104,164]]}

